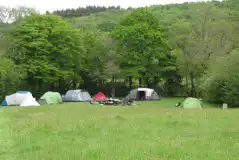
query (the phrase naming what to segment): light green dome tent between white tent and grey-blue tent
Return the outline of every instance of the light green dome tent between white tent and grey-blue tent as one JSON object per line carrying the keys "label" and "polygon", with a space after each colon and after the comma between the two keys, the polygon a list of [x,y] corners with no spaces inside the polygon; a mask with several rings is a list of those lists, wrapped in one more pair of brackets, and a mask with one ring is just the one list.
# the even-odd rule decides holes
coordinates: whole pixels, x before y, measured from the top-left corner
{"label": "light green dome tent between white tent and grey-blue tent", "polygon": [[59,103],[62,103],[62,102],[63,101],[62,101],[61,95],[58,92],[46,92],[39,99],[39,103],[41,105],[44,105],[44,104],[59,104]]}

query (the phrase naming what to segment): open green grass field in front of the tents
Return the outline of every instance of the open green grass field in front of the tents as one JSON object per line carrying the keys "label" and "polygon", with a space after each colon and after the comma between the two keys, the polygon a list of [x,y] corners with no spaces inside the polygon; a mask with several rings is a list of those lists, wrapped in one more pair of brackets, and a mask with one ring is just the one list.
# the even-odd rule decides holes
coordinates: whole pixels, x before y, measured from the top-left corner
{"label": "open green grass field in front of the tents", "polygon": [[236,160],[239,110],[64,103],[0,108],[0,160]]}

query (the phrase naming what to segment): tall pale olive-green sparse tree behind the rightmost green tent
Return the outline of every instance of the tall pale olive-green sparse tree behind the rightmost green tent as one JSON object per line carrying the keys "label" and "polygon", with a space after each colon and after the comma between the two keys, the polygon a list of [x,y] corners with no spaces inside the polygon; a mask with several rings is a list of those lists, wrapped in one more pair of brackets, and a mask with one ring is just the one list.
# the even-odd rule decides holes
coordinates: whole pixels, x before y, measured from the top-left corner
{"label": "tall pale olive-green sparse tree behind the rightmost green tent", "polygon": [[211,4],[197,4],[188,9],[184,20],[171,26],[170,46],[190,96],[198,96],[199,79],[214,57],[228,54],[232,49],[233,29],[227,23],[225,11]]}

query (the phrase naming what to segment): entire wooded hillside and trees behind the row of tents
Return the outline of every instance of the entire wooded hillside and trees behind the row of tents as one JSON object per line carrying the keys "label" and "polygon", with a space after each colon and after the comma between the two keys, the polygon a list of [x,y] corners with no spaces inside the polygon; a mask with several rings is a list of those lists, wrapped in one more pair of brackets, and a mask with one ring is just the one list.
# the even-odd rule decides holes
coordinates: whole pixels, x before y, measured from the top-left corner
{"label": "entire wooded hillside and trees behind the row of tents", "polygon": [[239,106],[239,1],[46,14],[2,6],[0,56],[1,97],[151,87]]}

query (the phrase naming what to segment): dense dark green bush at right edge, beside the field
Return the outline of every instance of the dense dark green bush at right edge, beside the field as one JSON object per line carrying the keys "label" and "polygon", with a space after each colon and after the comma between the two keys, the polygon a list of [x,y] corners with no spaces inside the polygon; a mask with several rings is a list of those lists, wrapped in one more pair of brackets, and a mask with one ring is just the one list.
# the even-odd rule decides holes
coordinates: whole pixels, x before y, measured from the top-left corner
{"label": "dense dark green bush at right edge, beside the field", "polygon": [[239,106],[239,51],[220,59],[220,66],[213,66],[213,72],[203,87],[205,98],[212,102],[224,102]]}

